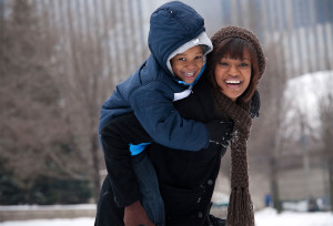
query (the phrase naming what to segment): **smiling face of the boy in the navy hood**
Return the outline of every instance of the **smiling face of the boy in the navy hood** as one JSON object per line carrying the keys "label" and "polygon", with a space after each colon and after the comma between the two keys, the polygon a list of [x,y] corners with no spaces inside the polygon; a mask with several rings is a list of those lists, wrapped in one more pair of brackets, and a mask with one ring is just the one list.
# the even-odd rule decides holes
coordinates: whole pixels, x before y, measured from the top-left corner
{"label": "smiling face of the boy in the navy hood", "polygon": [[192,47],[185,52],[174,55],[170,63],[174,75],[191,84],[203,66],[203,50],[199,45]]}

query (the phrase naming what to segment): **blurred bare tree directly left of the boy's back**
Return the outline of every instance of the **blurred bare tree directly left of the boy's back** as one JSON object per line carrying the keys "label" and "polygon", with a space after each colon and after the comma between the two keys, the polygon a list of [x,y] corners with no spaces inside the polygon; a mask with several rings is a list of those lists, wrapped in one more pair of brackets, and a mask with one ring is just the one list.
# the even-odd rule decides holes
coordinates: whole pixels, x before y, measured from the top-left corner
{"label": "blurred bare tree directly left of the boy's back", "polygon": [[[59,2],[60,17],[65,21],[58,27],[57,32],[64,34],[59,39],[59,51],[56,55],[58,70],[57,81],[61,95],[63,116],[69,126],[70,134],[78,152],[82,157],[81,164],[89,179],[93,183],[94,198],[99,197],[101,168],[101,152],[98,141],[99,111],[103,99],[105,99],[107,86],[112,86],[110,75],[103,76],[103,55],[101,44],[105,40],[105,33],[100,34],[94,28],[99,28],[98,21],[85,20],[88,33],[81,33],[74,27],[74,20],[82,20],[81,14],[71,11],[71,2]],[[85,4],[82,9],[89,10]],[[84,11],[89,17],[89,11]],[[84,21],[84,20],[83,20]],[[83,22],[82,22],[83,23]],[[84,23],[83,23],[84,24]]]}

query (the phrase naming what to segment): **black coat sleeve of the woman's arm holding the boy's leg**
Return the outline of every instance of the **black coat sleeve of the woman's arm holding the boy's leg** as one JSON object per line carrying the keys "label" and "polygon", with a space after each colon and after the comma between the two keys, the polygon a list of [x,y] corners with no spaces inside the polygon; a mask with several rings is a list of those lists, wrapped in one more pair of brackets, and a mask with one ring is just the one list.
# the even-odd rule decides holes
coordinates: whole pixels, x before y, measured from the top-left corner
{"label": "black coat sleeve of the woman's arm holding the boy's leg", "polygon": [[148,143],[151,138],[134,114],[111,120],[101,131],[100,138],[114,201],[119,207],[129,206],[140,199],[129,144]]}

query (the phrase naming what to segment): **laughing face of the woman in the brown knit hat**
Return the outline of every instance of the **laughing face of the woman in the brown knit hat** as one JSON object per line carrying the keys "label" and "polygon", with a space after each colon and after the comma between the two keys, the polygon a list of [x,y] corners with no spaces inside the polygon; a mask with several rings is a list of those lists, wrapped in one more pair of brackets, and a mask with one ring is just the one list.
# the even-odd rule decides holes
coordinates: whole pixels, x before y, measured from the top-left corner
{"label": "laughing face of the woman in the brown knit hat", "polygon": [[221,92],[235,101],[244,93],[251,81],[251,56],[244,50],[243,59],[231,59],[223,55],[215,66],[215,80]]}

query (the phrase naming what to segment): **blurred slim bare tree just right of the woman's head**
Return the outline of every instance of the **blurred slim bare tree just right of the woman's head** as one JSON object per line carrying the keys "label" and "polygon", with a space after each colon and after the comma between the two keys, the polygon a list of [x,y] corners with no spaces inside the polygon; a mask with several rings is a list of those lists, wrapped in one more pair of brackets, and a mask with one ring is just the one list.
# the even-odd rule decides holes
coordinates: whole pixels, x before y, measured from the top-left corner
{"label": "blurred slim bare tree just right of the woman's head", "polygon": [[[281,212],[279,195],[279,156],[282,148],[283,92],[286,75],[281,54],[281,42],[271,43],[265,49],[268,66],[259,85],[261,94],[260,120],[252,130],[249,153],[251,167],[255,172],[266,172],[275,208]],[[274,61],[274,63],[272,63]]]}

